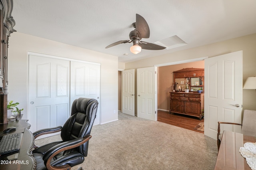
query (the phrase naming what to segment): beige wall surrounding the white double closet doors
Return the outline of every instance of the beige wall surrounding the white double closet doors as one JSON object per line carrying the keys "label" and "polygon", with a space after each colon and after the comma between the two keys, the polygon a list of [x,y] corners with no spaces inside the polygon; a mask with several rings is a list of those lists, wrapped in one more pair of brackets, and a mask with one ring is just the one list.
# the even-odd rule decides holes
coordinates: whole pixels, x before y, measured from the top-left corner
{"label": "beige wall surrounding the white double closet doors", "polygon": [[[28,51],[100,63],[100,122],[118,120],[118,57],[72,45],[14,32],[8,49],[8,101],[20,103],[23,118],[28,118]],[[114,110],[116,113],[114,113]]]}

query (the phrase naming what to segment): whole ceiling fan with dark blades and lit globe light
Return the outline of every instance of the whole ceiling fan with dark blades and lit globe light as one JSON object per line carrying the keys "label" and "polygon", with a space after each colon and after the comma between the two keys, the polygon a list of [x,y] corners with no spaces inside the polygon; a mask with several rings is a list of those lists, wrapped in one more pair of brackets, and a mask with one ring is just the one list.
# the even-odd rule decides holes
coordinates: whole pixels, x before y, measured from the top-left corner
{"label": "whole ceiling fan with dark blades and lit globe light", "polygon": [[112,43],[106,46],[105,48],[113,47],[114,45],[118,45],[121,43],[131,43],[131,42],[133,43],[133,45],[130,47],[130,51],[134,54],[140,53],[141,49],[160,50],[160,49],[166,48],[160,45],[156,45],[154,43],[141,41],[142,38],[149,38],[150,30],[146,20],[139,14],[136,14],[136,22],[132,23],[132,26],[135,29],[131,31],[129,34],[130,40],[121,40],[121,41]]}

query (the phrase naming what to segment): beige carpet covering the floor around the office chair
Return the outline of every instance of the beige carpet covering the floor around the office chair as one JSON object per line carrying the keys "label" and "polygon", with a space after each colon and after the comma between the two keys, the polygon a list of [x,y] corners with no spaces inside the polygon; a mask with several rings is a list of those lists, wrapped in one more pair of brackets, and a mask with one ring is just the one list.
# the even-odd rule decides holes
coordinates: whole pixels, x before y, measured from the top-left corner
{"label": "beige carpet covering the floor around the office chair", "polygon": [[[202,133],[119,113],[118,121],[92,128],[84,170],[213,170],[216,140]],[[36,140],[59,140],[60,135]]]}

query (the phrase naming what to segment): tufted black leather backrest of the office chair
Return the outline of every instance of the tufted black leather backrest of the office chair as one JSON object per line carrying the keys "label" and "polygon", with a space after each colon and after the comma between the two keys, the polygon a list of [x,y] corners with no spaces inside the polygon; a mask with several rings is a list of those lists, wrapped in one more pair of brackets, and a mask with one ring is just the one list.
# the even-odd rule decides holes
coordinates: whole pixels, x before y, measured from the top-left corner
{"label": "tufted black leather backrest of the office chair", "polygon": [[[74,100],[71,108],[71,116],[61,130],[62,140],[65,142],[90,134],[97,109],[98,101],[96,99],[81,97]],[[78,146],[79,152],[84,156],[87,156],[88,153],[88,142]]]}

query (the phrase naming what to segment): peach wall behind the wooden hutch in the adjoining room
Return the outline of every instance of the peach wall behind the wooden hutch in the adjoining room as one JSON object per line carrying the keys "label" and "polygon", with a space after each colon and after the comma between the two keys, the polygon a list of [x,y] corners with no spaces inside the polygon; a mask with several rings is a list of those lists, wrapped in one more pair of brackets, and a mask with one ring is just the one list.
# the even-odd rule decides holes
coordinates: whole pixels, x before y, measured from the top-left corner
{"label": "peach wall behind the wooden hutch in the adjoining room", "polygon": [[173,71],[184,68],[204,68],[204,61],[158,67],[158,109],[169,111],[169,92],[172,91]]}

